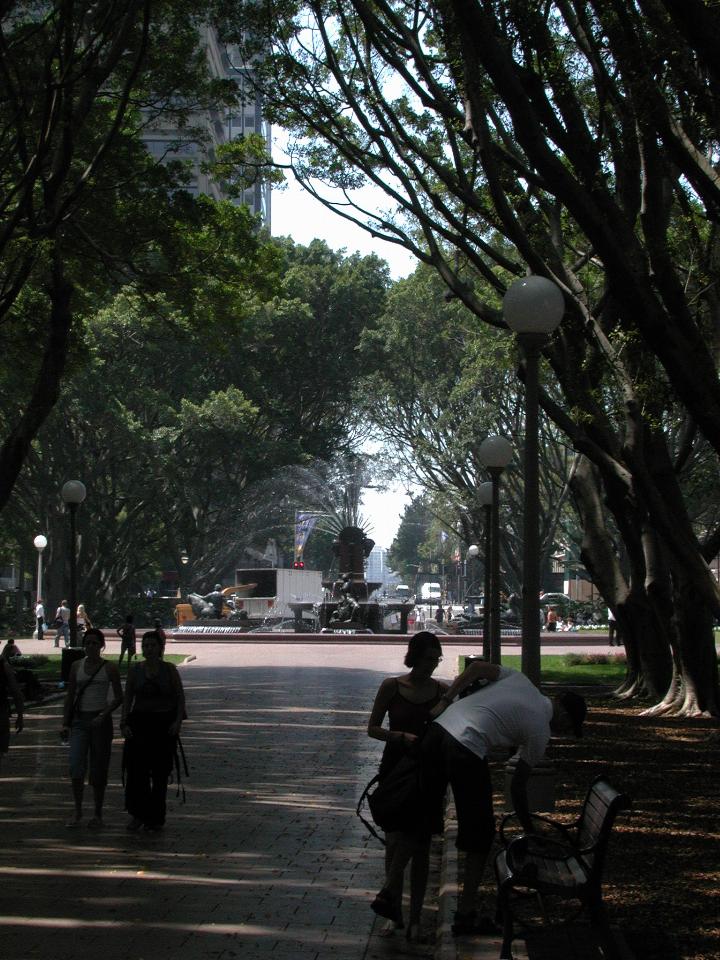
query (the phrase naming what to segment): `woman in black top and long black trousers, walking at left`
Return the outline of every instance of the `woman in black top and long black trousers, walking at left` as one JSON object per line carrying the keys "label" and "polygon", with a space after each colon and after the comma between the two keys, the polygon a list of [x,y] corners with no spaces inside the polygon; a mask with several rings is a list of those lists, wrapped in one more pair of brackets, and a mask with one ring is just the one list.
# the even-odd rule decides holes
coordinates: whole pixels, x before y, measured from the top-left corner
{"label": "woman in black top and long black trousers, walking at left", "polygon": [[162,658],[164,649],[156,630],[144,633],[144,661],[130,667],[125,684],[120,730],[125,737],[128,830],[143,827],[154,832],[165,825],[167,786],[185,716],[185,693],[177,667]]}

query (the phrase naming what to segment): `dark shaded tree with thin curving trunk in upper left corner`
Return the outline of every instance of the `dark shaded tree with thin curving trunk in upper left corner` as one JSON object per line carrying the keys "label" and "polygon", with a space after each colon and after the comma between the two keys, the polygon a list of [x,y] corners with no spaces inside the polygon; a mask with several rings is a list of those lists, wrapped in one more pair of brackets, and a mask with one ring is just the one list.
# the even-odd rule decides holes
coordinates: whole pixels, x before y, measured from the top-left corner
{"label": "dark shaded tree with thin curving trunk in upper left corner", "polygon": [[[2,420],[0,509],[82,340],[78,287],[88,266],[117,273],[104,217],[122,205],[129,184],[153,179],[140,130],[158,112],[186,123],[200,104],[228,94],[209,83],[198,44],[210,6],[18,2],[3,19],[0,323],[11,345],[6,359],[22,354],[24,364],[21,381],[11,373],[2,383],[11,402]],[[155,221],[156,236],[163,223]],[[129,268],[127,245],[122,259]]]}

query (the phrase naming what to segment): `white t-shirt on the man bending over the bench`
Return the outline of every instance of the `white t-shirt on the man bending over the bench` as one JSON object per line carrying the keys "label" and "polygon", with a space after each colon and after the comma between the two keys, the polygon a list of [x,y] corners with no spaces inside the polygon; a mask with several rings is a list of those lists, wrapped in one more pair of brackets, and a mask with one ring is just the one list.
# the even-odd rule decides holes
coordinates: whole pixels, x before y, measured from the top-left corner
{"label": "white t-shirt on the man bending over the bench", "polygon": [[517,750],[534,767],[550,740],[552,703],[518,670],[500,667],[487,686],[457,700],[435,721],[468,750]]}

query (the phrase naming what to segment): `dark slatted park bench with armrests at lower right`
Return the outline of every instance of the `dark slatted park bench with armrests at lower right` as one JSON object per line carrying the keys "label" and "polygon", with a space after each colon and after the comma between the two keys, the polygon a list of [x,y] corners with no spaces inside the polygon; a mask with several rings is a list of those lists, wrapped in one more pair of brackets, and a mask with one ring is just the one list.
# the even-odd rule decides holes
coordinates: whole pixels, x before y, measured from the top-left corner
{"label": "dark slatted park bench with armrests at lower right", "polygon": [[508,832],[516,814],[503,818],[500,840],[503,849],[495,860],[498,914],[502,918],[501,960],[512,960],[514,895],[537,896],[547,915],[543,896],[560,901],[576,900],[587,910],[596,927],[603,952],[617,957],[602,899],[602,875],[610,833],[617,814],[630,807],[629,799],[597,777],[588,789],[582,812],[568,826],[549,817],[532,814],[538,834],[516,836]]}

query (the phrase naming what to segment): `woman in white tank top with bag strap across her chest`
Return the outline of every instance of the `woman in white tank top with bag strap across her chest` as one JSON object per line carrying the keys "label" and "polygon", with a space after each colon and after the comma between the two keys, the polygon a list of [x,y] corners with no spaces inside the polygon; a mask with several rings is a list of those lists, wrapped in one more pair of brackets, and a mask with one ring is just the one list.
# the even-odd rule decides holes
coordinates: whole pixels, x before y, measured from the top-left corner
{"label": "woman in white tank top with bag strap across her chest", "polygon": [[70,780],[75,813],[68,827],[82,826],[82,801],[85,774],[90,761],[90,782],[95,803],[89,827],[102,826],[102,805],[105,799],[110,747],[112,745],[112,712],[122,703],[120,671],[114,663],[100,656],[105,646],[101,630],[85,632],[85,657],[70,668],[63,726],[63,740],[70,738]]}

